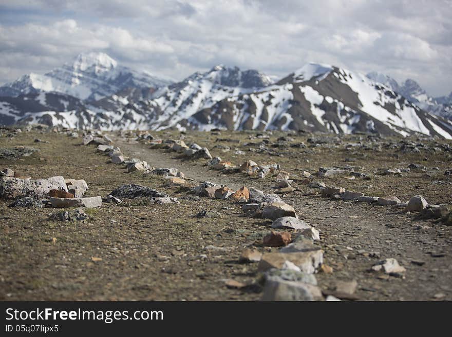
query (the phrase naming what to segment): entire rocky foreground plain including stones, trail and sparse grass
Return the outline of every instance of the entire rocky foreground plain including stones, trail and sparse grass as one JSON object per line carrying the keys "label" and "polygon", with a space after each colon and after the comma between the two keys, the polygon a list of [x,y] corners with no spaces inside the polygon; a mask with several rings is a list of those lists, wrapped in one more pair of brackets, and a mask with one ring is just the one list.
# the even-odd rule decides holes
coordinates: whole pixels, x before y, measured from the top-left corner
{"label": "entire rocky foreground plain including stones, trail and sparse grass", "polygon": [[451,300],[452,143],[0,129],[2,300]]}

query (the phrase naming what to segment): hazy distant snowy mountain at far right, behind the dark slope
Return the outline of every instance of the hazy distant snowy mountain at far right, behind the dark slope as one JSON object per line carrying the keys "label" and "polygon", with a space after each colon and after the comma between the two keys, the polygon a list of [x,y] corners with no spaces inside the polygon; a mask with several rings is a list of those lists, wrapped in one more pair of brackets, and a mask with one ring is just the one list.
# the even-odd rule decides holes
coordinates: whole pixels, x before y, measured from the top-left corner
{"label": "hazy distant snowy mountain at far right, behind the dark slope", "polygon": [[370,72],[367,77],[400,93],[421,109],[452,120],[452,92],[449,96],[435,98],[427,94],[416,81],[410,78],[399,85],[396,80],[382,73]]}

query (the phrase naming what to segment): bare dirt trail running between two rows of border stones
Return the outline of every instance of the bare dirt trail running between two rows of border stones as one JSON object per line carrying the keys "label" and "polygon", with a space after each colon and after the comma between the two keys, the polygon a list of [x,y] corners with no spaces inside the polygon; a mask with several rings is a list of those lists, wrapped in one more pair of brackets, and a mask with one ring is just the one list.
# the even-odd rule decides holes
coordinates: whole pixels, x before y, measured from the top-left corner
{"label": "bare dirt trail running between two rows of border stones", "polygon": [[[129,156],[137,156],[156,167],[178,168],[198,181],[209,180],[233,188],[247,185],[271,192],[269,180],[218,174],[205,165],[183,162],[172,152],[148,149],[120,137],[115,137],[115,143]],[[412,222],[398,208],[301,194],[295,192],[283,199],[302,219],[321,231],[325,262],[335,270],[333,274],[317,274],[322,288],[334,288],[338,280],[356,280],[359,288],[355,295],[360,299],[428,300],[447,292],[450,296],[452,266],[447,256],[452,253],[451,239],[431,223]],[[376,277],[369,272],[373,264],[389,257],[407,269],[406,279]]]}

